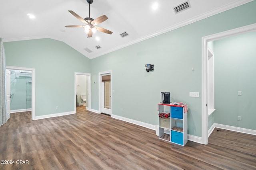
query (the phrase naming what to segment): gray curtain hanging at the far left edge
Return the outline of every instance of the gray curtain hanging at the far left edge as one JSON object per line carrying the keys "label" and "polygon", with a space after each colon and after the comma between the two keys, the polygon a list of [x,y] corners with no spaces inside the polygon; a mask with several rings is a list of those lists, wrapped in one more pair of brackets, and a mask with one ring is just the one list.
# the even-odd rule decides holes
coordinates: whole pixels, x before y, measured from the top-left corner
{"label": "gray curtain hanging at the far left edge", "polygon": [[0,38],[0,125],[7,122],[7,104],[6,104],[6,65],[4,55],[4,43]]}

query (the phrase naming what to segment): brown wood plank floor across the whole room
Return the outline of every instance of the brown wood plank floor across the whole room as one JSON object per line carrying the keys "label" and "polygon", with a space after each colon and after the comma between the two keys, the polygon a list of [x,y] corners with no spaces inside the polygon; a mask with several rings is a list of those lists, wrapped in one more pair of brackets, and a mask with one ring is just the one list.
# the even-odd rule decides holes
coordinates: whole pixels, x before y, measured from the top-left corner
{"label": "brown wood plank floor across the whole room", "polygon": [[208,145],[182,147],[79,106],[77,114],[34,121],[30,112],[12,113],[0,127],[0,160],[14,163],[1,170],[255,170],[256,136],[215,129]]}

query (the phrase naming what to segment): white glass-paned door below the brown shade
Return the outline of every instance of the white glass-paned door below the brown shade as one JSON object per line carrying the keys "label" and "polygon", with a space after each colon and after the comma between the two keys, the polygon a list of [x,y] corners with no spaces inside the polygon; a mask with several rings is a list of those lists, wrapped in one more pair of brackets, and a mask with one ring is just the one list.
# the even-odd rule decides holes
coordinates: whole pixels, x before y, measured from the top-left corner
{"label": "white glass-paned door below the brown shade", "polygon": [[111,115],[110,80],[102,82],[102,113]]}

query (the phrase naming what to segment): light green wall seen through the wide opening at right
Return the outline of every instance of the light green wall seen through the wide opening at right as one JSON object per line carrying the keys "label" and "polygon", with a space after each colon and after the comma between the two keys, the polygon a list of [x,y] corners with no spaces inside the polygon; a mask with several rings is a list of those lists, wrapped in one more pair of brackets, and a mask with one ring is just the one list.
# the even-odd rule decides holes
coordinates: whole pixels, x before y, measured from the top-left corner
{"label": "light green wall seen through the wide opening at right", "polygon": [[256,32],[214,41],[214,56],[215,123],[256,130]]}

